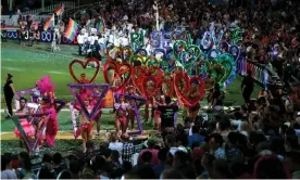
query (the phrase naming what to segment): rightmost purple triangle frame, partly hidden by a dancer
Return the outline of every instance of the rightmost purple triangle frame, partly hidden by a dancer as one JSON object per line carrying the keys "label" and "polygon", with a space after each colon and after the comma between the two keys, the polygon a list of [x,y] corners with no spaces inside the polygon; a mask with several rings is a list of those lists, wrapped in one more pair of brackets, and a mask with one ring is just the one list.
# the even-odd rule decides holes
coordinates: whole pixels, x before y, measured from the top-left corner
{"label": "rightmost purple triangle frame, partly hidden by a dancer", "polygon": [[142,124],[139,116],[139,107],[142,106],[146,103],[146,99],[137,95],[130,95],[127,93],[114,93],[114,101],[118,102],[118,97],[123,95],[127,101],[130,102],[132,108],[135,111],[135,116],[138,125],[138,131],[135,132],[128,132],[129,136],[139,136],[143,133],[142,130]]}

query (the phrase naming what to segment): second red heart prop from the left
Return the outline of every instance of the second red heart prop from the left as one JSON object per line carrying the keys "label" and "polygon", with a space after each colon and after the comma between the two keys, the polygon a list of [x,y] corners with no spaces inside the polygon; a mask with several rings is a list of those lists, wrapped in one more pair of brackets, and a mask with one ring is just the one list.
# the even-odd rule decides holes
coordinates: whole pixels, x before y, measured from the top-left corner
{"label": "second red heart prop from the left", "polygon": [[120,86],[112,87],[113,91],[118,91],[118,90],[124,89],[126,87],[126,85],[129,82],[130,77],[132,77],[130,64],[108,61],[103,66],[103,76],[104,76],[104,80],[107,83],[111,83],[111,81],[109,79],[109,70],[111,70],[111,69],[114,70],[114,74],[120,78],[123,78],[123,75],[125,75],[126,73],[129,73],[129,75],[127,77],[125,77],[125,79],[122,80]]}

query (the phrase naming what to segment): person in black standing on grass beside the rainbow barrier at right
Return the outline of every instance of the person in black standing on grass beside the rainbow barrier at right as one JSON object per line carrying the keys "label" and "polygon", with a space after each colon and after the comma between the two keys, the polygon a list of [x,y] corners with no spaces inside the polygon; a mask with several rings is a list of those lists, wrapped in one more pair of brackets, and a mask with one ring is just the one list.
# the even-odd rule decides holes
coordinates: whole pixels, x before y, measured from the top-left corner
{"label": "person in black standing on grass beside the rainbow barrier at right", "polygon": [[240,88],[245,102],[249,103],[251,93],[254,89],[254,79],[252,77],[252,70],[247,72],[247,76],[242,79]]}

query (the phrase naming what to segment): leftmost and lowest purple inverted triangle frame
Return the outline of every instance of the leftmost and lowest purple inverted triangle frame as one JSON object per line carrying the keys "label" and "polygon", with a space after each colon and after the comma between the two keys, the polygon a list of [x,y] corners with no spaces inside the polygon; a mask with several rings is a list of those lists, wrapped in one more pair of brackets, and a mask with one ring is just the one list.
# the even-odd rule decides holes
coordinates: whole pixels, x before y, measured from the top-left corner
{"label": "leftmost and lowest purple inverted triangle frame", "polygon": [[[33,153],[35,152],[35,150],[37,147],[37,144],[38,144],[38,140],[40,139],[40,137],[41,137],[41,134],[42,134],[42,132],[43,132],[43,130],[46,128],[46,125],[47,125],[47,123],[49,120],[50,114],[51,113],[29,114],[29,115],[15,115],[15,116],[13,116],[12,119],[13,119],[16,128],[18,129],[18,131],[20,131],[20,133],[22,136],[22,139],[25,142],[25,147],[26,147],[27,152],[29,153],[29,155],[33,155]],[[26,119],[34,118],[34,119],[36,119],[36,120],[39,121],[42,116],[47,116],[47,118],[46,118],[45,123],[42,124],[42,126],[40,127],[41,129],[40,129],[39,133],[36,134],[35,139],[29,139],[27,137],[27,134],[25,133],[25,131],[24,131],[24,129],[23,129],[23,127],[22,127],[22,125],[20,124],[18,120],[22,119],[22,118],[26,118]]]}

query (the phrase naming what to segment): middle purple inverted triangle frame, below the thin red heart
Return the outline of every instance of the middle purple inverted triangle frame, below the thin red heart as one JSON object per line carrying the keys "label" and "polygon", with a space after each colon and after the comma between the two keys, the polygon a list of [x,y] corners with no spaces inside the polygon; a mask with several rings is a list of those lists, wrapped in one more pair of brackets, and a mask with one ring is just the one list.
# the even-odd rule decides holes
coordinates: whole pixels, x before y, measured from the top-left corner
{"label": "middle purple inverted triangle frame, below the thin red heart", "polygon": [[[75,100],[78,102],[79,106],[83,110],[84,115],[86,118],[90,121],[96,117],[96,115],[101,111],[100,106],[101,103],[107,95],[108,91],[110,90],[111,86],[108,83],[74,83],[74,85],[68,85],[71,92],[73,93]],[[85,106],[85,103],[79,97],[79,93],[76,90],[80,90],[83,88],[90,89],[90,90],[100,90],[101,95],[98,98],[98,101],[96,102],[96,105],[93,106],[92,111],[89,113],[88,110]]]}

